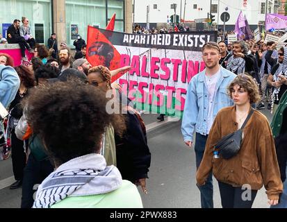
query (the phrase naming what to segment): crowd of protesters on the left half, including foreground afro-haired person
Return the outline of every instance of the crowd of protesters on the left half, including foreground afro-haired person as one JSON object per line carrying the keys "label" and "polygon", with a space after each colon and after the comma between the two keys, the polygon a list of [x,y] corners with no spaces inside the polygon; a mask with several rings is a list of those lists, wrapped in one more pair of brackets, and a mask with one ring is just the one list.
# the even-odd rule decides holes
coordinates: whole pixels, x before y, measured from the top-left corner
{"label": "crowd of protesters on the left half, including foreground afro-haired person", "polygon": [[[49,49],[35,44],[31,61],[25,58],[17,67],[0,53],[0,101],[9,112],[1,121],[6,132],[1,159],[12,154],[16,181],[10,189],[22,187],[22,208],[75,207],[79,198],[85,199],[79,207],[142,207],[136,185],[147,193],[151,162],[145,124],[120,86],[111,83],[131,67],[92,67],[81,37],[74,42],[77,59],[65,42],[58,49],[56,33],[48,43]],[[108,91],[122,112],[107,114]],[[79,181],[60,180],[71,172]],[[52,188],[46,187],[49,178],[58,181]],[[42,195],[47,191],[55,191],[53,201]]]}

